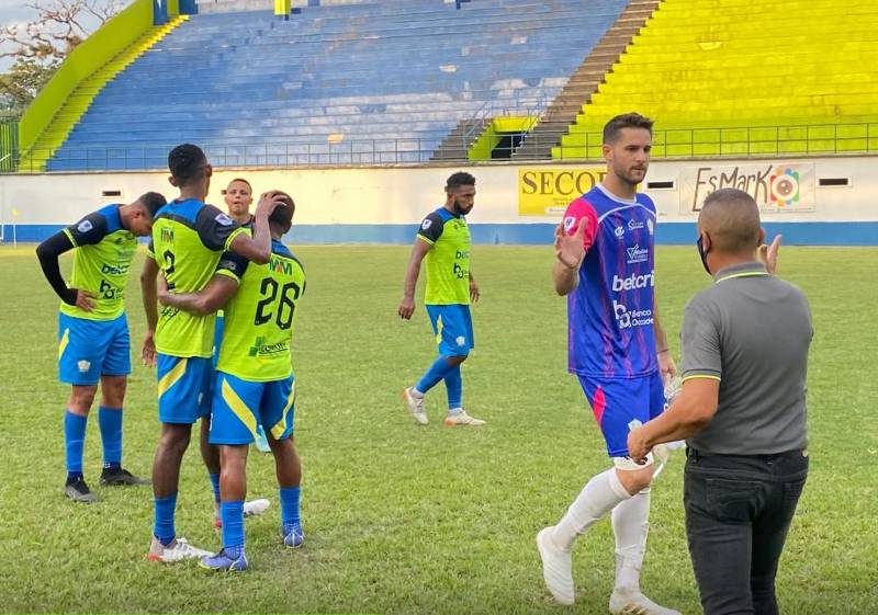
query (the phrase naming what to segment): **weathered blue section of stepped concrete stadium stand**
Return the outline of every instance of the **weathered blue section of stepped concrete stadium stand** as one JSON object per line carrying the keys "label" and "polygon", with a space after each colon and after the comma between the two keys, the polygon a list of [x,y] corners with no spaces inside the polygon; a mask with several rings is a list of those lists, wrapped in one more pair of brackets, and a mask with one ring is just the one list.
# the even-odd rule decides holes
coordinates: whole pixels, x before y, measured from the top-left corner
{"label": "weathered blue section of stepped concrete stadium stand", "polygon": [[192,15],[97,93],[47,169],[429,160],[480,110],[539,114],[624,0],[384,0]]}

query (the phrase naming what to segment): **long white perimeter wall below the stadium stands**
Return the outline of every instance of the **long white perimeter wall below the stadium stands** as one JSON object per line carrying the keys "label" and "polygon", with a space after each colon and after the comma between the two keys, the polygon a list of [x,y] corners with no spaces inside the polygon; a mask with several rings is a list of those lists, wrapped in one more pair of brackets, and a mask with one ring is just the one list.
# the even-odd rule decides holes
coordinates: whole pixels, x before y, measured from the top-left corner
{"label": "long white perimeter wall below the stadium stands", "polygon": [[[790,161],[813,166],[814,183],[820,178],[849,178],[849,187],[814,187],[812,210],[796,207],[779,213],[764,212],[765,221],[878,221],[878,158],[835,157]],[[699,167],[765,166],[772,161],[655,161],[648,181],[674,181],[674,190],[655,190],[660,217],[667,221],[690,221],[694,213],[680,205],[682,178]],[[296,224],[412,224],[443,200],[446,178],[462,169],[476,176],[476,207],[473,224],[530,224],[555,221],[558,215],[520,216],[518,213],[519,169],[554,172],[597,164],[469,166],[461,168],[418,167],[381,169],[284,169],[217,171],[209,202],[222,206],[221,189],[238,175],[246,176],[259,193],[282,189],[296,202]],[[12,221],[18,210],[20,225],[66,225],[113,202],[128,202],[143,192],[158,191],[167,197],[176,191],[167,173],[80,173],[0,175],[0,219]],[[121,190],[121,197],[102,197],[105,190]]]}

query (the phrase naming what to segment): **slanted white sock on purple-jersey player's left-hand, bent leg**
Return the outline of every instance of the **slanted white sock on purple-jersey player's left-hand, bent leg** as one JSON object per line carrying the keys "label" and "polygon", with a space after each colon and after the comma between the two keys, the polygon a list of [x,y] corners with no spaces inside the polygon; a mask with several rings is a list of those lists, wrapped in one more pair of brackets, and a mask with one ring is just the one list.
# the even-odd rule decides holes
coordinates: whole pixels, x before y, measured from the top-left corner
{"label": "slanted white sock on purple-jersey player's left-hand, bent leg", "polygon": [[597,475],[583,487],[567,512],[558,522],[551,534],[552,542],[558,548],[570,550],[579,534],[584,534],[619,502],[629,498],[631,496],[619,481],[616,468]]}

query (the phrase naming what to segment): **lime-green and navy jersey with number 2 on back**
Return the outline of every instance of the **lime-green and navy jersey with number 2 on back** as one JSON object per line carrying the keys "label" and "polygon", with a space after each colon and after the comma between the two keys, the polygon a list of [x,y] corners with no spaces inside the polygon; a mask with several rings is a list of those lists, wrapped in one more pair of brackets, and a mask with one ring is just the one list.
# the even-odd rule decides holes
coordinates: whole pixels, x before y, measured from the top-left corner
{"label": "lime-green and navy jersey with number 2 on back", "polygon": [[[226,214],[201,201],[172,201],[153,218],[149,255],[175,293],[198,293],[213,277],[224,250],[245,230]],[[162,306],[156,350],[171,356],[211,356],[213,314],[195,316]]]}

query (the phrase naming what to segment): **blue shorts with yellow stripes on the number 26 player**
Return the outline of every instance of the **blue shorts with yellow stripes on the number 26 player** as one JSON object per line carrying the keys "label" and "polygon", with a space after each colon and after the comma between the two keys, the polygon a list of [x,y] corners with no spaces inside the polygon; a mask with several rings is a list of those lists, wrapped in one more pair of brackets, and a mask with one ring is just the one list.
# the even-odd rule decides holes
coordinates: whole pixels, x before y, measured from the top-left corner
{"label": "blue shorts with yellow stripes on the number 26 player", "polygon": [[211,406],[211,444],[250,444],[256,426],[284,440],[293,433],[295,376],[254,383],[232,374],[216,373]]}

